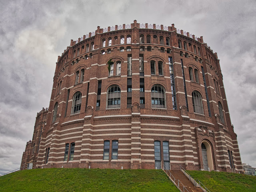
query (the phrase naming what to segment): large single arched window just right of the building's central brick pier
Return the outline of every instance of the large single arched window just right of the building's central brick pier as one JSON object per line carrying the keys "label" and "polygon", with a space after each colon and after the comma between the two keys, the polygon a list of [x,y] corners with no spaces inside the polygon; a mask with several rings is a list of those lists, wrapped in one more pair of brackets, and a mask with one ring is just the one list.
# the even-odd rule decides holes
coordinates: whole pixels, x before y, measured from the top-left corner
{"label": "large single arched window just right of the building's central brick pier", "polygon": [[151,105],[152,108],[166,108],[163,86],[156,84],[151,88]]}

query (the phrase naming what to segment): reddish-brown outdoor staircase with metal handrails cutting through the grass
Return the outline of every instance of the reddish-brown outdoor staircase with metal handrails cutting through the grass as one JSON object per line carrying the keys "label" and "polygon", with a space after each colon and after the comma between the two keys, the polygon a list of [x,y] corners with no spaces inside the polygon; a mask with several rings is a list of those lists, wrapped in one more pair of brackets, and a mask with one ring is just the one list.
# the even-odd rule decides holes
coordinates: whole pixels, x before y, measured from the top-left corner
{"label": "reddish-brown outdoor staircase with metal handrails cutting through the grass", "polygon": [[[175,183],[177,184],[177,186],[178,186],[178,180],[180,180],[180,182],[182,182],[182,184],[186,187],[188,192],[203,192],[203,190],[200,189],[199,187],[195,187],[194,184],[192,184],[192,182],[184,175],[182,171],[180,170],[169,170],[169,171],[172,174],[172,176],[174,176]],[[183,191],[182,184],[180,184],[180,189]],[[184,190],[184,192],[187,192],[186,189]]]}

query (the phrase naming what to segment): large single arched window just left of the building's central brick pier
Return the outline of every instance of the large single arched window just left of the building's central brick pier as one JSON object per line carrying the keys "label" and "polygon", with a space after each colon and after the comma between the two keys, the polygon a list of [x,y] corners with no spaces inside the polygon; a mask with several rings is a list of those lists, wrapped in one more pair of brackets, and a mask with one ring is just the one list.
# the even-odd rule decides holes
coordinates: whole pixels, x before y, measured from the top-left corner
{"label": "large single arched window just left of the building's central brick pier", "polygon": [[107,108],[120,108],[121,90],[117,85],[112,85],[108,88]]}

